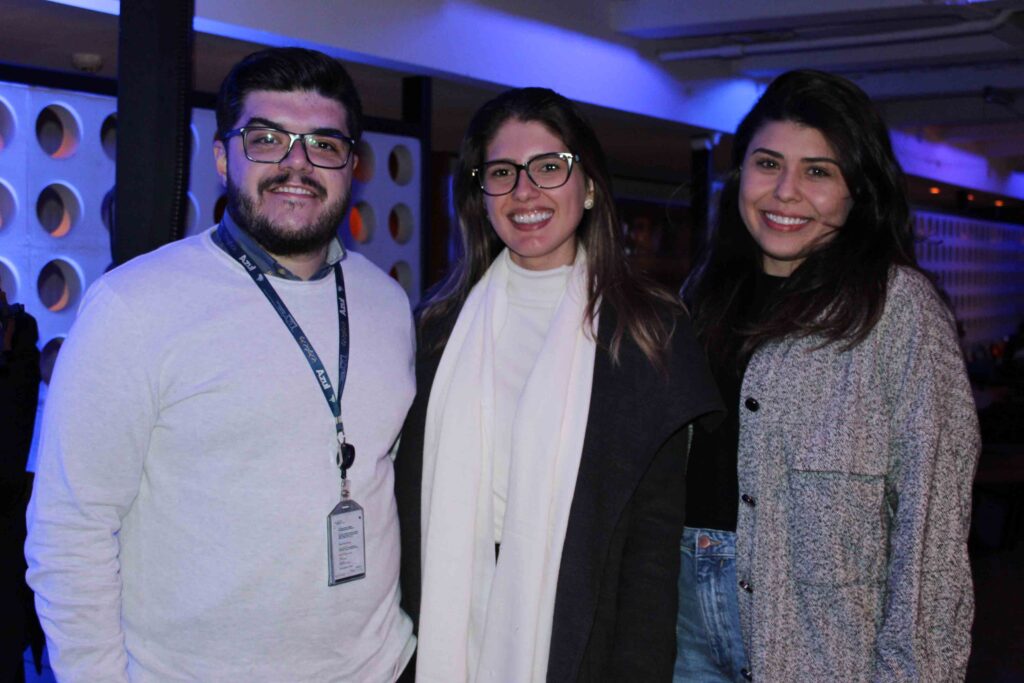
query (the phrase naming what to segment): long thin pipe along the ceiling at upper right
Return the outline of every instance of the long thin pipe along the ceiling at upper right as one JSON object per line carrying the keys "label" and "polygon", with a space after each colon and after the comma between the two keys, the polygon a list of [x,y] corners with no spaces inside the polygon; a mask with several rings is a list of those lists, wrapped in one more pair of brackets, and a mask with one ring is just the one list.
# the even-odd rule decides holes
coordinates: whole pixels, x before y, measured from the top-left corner
{"label": "long thin pipe along the ceiling at upper right", "polygon": [[958,36],[974,36],[991,33],[1010,20],[1018,10],[1004,9],[990,19],[979,19],[947,27],[930,29],[911,29],[909,31],[893,31],[890,33],[864,36],[836,36],[814,40],[792,40],[774,43],[755,43],[753,45],[720,45],[694,50],[659,50],[657,58],[660,61],[681,61],[685,59],[738,59],[756,54],[785,54],[787,52],[807,52],[810,50],[829,50],[842,47],[864,47],[867,45],[886,45],[892,43],[909,43],[919,40],[937,40]]}

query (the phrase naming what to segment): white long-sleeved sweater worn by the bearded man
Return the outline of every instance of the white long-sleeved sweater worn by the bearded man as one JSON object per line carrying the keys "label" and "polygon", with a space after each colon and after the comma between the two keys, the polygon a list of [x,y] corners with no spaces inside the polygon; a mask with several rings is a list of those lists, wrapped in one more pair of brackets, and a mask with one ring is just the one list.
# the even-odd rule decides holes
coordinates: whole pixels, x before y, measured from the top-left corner
{"label": "white long-sleeved sweater worn by the bearded man", "polygon": [[[61,681],[392,681],[398,608],[388,450],[413,399],[400,288],[343,261],[342,418],[367,577],[329,587],[334,421],[295,340],[210,231],[86,295],[46,401],[29,581]],[[274,289],[338,373],[334,278]]]}

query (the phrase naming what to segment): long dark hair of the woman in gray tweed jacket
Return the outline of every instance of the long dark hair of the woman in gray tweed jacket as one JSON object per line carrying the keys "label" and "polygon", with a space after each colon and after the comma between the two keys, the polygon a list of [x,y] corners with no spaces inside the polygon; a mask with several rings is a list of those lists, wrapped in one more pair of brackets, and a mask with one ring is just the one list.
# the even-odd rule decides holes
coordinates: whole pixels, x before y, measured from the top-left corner
{"label": "long dark hair of the woman in gray tweed jacket", "polygon": [[[740,169],[757,132],[786,121],[821,132],[838,157],[853,206],[845,225],[807,256],[752,323],[742,316],[762,261],[740,217]],[[903,171],[882,117],[844,78],[809,70],[782,74],[736,129],[715,228],[683,285],[698,337],[713,360],[749,356],[764,342],[790,335],[820,335],[823,344],[850,348],[882,315],[894,265],[921,269]]]}

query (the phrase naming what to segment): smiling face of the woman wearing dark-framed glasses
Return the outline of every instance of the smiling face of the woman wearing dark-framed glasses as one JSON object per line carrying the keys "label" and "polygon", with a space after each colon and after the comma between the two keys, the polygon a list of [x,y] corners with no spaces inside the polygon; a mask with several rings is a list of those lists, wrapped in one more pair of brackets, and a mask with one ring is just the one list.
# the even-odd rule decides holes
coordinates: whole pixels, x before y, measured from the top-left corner
{"label": "smiling face of the woman wearing dark-framed glasses", "polygon": [[[565,143],[543,124],[510,119],[490,140],[484,161],[525,164],[539,155],[559,152],[568,152]],[[530,270],[549,270],[575,258],[577,226],[584,201],[593,191],[593,183],[577,165],[568,182],[554,189],[541,189],[520,172],[515,189],[501,197],[485,196],[484,205],[512,260]]]}

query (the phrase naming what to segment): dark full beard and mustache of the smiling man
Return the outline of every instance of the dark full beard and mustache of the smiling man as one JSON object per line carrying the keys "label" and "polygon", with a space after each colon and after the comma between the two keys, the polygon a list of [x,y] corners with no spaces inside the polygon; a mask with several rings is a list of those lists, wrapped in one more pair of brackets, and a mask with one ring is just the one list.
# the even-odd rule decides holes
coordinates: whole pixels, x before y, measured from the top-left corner
{"label": "dark full beard and mustache of the smiling man", "polygon": [[[291,180],[300,182],[312,190],[322,201],[327,197],[327,189],[316,180],[298,176],[292,178],[291,173],[282,173],[272,178],[261,180],[256,187],[257,193],[263,193],[276,184]],[[341,220],[348,211],[349,194],[346,193],[336,201],[328,204],[319,216],[312,222],[297,228],[285,228],[270,221],[256,207],[256,200],[234,184],[227,177],[227,213],[249,236],[274,256],[298,256],[318,251],[331,243],[338,234]]]}

